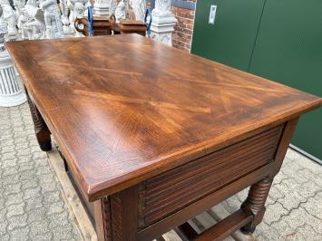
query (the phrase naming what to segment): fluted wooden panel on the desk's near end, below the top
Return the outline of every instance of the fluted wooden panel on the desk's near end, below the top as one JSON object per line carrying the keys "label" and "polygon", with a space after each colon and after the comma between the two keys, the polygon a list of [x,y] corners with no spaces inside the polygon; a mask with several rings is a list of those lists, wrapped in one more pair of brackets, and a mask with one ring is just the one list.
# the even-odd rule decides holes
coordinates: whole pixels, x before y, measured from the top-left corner
{"label": "fluted wooden panel on the desk's near end, below the top", "polygon": [[147,227],[274,158],[283,126],[151,178],[141,186],[139,225]]}

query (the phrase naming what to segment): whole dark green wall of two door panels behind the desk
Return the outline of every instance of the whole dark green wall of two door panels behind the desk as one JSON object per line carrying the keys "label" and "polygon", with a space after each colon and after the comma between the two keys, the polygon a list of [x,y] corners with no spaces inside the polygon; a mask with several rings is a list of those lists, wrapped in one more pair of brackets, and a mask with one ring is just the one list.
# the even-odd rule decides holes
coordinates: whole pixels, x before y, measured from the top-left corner
{"label": "whole dark green wall of two door panels behind the desk", "polygon": [[[322,97],[321,0],[206,2],[197,4],[192,53]],[[322,159],[321,109],[300,119],[291,142]]]}

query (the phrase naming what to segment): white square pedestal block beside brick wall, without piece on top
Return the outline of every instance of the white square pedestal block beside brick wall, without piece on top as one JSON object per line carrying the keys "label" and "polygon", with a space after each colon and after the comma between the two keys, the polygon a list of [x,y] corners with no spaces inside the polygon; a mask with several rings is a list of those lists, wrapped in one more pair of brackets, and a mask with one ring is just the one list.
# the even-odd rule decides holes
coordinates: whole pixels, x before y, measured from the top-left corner
{"label": "white square pedestal block beside brick wall, without piece on top", "polygon": [[177,23],[174,14],[152,11],[151,39],[172,45],[173,27]]}

